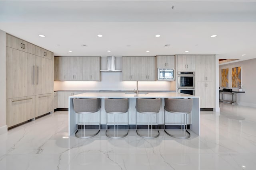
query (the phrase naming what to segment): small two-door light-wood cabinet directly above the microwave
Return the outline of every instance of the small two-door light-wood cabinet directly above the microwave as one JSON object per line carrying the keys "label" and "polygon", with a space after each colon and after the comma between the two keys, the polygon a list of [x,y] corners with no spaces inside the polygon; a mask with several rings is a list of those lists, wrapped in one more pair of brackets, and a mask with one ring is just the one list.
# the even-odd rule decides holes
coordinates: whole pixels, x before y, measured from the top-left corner
{"label": "small two-door light-wood cabinet directly above the microwave", "polygon": [[156,68],[175,68],[174,55],[157,55]]}

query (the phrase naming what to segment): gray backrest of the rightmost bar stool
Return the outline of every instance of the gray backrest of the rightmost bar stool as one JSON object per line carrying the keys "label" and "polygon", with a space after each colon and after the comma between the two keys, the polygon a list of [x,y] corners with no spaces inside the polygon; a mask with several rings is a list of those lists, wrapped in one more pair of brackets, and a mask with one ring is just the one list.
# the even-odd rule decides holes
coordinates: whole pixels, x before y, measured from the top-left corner
{"label": "gray backrest of the rightmost bar stool", "polygon": [[192,111],[193,99],[165,98],[164,103],[166,111],[185,114]]}

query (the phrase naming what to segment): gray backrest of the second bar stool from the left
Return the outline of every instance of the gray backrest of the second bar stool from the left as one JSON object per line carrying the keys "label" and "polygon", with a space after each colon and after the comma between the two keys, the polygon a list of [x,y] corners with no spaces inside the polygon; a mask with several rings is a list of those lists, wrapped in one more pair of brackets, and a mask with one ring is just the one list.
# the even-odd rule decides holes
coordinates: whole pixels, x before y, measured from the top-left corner
{"label": "gray backrest of the second bar stool from the left", "polygon": [[107,113],[126,113],[128,109],[128,98],[105,98],[105,110]]}

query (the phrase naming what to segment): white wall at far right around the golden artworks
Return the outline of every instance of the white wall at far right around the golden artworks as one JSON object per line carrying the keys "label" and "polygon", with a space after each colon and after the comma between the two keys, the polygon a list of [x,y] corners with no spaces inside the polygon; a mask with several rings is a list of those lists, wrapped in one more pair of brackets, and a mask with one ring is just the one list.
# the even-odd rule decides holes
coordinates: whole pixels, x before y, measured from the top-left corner
{"label": "white wall at far right around the golden artworks", "polygon": [[241,83],[245,93],[239,94],[238,104],[256,107],[256,59],[240,61],[219,66],[219,86],[221,87],[221,69],[228,68],[229,88],[232,88],[232,68],[241,66]]}

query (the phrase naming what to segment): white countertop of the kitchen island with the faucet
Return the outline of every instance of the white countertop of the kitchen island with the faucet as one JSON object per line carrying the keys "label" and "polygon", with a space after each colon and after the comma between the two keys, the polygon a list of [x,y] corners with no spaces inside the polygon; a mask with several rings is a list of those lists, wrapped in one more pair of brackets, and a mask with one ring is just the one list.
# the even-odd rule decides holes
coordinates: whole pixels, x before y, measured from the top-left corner
{"label": "white countertop of the kitchen island with the faucet", "polygon": [[192,96],[178,92],[148,92],[136,95],[132,92],[89,92],[70,96],[69,98],[199,98],[199,96]]}

